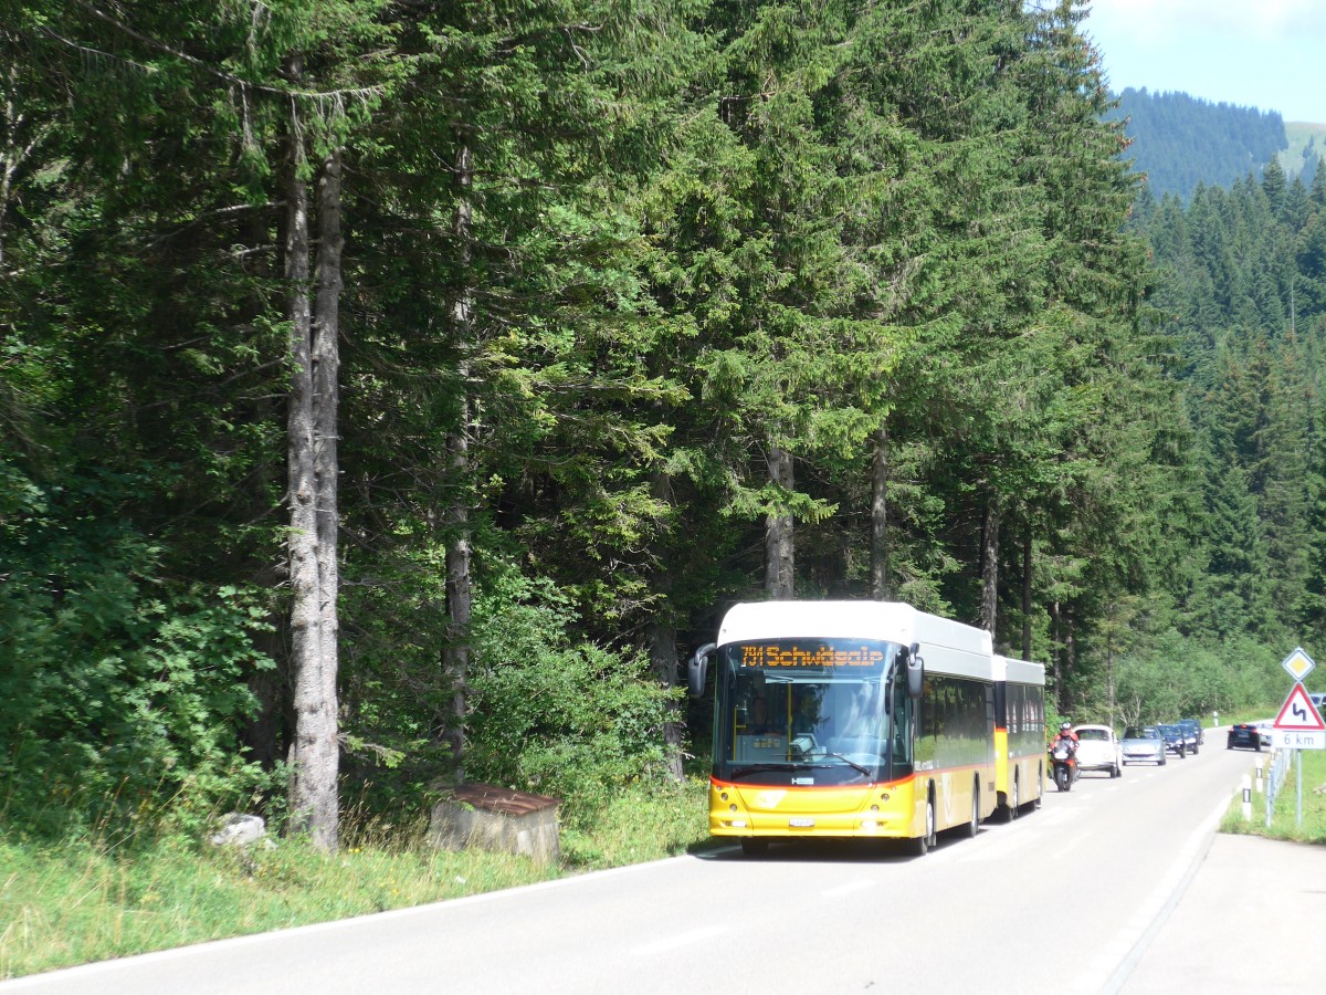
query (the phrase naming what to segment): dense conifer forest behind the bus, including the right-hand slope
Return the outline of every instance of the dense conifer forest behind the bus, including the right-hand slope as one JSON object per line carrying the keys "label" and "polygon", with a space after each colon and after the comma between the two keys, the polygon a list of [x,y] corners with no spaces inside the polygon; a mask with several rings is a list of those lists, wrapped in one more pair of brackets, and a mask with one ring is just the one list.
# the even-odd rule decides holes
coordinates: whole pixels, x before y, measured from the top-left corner
{"label": "dense conifer forest behind the bus, including the right-hand slope", "polygon": [[0,9],[9,820],[574,817],[703,752],[737,600],[1083,719],[1326,624],[1326,190],[1134,212],[1069,3]]}

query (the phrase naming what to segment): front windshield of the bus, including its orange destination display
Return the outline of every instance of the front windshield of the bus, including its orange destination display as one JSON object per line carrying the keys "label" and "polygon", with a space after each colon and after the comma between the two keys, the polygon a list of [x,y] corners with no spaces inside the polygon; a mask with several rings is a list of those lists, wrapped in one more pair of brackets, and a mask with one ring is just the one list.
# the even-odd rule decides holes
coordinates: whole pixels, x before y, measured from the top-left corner
{"label": "front windshield of the bus, including its orange destination display", "polygon": [[899,649],[837,638],[724,646],[716,776],[760,784],[884,780],[891,732],[895,750],[910,755],[906,715],[895,722],[887,714],[894,700],[906,702],[906,694],[888,693]]}

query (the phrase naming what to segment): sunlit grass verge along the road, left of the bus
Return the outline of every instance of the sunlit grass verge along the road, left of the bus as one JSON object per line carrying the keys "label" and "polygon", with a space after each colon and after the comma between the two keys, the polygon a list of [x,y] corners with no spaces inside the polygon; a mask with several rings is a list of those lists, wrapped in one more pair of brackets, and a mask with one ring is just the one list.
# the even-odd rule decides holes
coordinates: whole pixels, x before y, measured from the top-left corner
{"label": "sunlit grass verge along the road, left of the bus", "polygon": [[426,827],[215,849],[182,836],[41,842],[0,829],[0,978],[403,909],[707,845],[707,784],[635,788],[562,832],[562,864],[430,849]]}

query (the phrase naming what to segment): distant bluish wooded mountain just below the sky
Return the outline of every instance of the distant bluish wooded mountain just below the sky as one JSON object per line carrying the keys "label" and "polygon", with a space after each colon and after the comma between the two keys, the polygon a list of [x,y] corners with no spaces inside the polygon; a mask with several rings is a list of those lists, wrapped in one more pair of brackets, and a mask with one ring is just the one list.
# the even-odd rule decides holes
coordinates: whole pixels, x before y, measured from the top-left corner
{"label": "distant bluish wooded mountain just below the sky", "polygon": [[[1124,158],[1147,175],[1159,200],[1177,194],[1187,202],[1197,183],[1229,187],[1249,172],[1261,175],[1272,157],[1286,150],[1285,121],[1278,110],[1211,103],[1187,93],[1150,93],[1128,88],[1110,114],[1127,121],[1132,145]],[[1317,142],[1317,147],[1322,143]],[[1290,170],[1288,163],[1286,171]]]}

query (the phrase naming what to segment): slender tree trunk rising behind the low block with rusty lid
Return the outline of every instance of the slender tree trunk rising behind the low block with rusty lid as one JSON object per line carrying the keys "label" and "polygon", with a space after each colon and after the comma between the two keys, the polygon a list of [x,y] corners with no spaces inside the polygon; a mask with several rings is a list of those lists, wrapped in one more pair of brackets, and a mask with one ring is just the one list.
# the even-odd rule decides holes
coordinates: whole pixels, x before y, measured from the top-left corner
{"label": "slender tree trunk rising behind the low block with rusty lid", "polygon": [[[469,147],[461,146],[456,154],[456,182],[460,196],[456,200],[455,232],[460,245],[461,269],[468,275],[473,259],[473,207],[469,187],[473,183],[473,165]],[[465,780],[465,710],[469,674],[469,616],[473,604],[469,581],[469,357],[475,349],[473,295],[465,287],[451,306],[456,342],[460,350],[459,379],[461,385],[460,421],[448,439],[451,454],[452,499],[447,508],[447,645],[443,650],[443,671],[451,686],[451,714],[446,718],[446,739],[451,748],[452,776],[456,784]]]}

